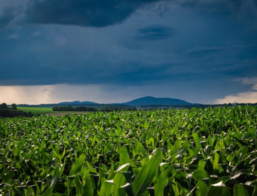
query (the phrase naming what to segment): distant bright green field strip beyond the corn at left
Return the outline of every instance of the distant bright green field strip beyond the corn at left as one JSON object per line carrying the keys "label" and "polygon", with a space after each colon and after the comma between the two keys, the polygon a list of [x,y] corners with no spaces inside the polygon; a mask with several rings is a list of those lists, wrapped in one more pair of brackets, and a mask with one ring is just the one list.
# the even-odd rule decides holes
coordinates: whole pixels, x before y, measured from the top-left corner
{"label": "distant bright green field strip beyond the corn at left", "polygon": [[87,114],[87,112],[65,112],[65,111],[52,111],[51,107],[17,107],[18,110],[24,112],[31,112],[34,115],[44,114]]}

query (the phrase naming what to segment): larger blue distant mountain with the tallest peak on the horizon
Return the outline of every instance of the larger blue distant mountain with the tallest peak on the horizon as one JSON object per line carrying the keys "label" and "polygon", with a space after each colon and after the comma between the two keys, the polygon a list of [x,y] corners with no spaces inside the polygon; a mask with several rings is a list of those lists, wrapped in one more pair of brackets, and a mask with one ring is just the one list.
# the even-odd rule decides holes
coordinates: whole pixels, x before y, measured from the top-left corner
{"label": "larger blue distant mountain with the tallest peak on the horizon", "polygon": [[134,99],[132,101],[128,101],[122,103],[125,105],[131,106],[140,106],[140,105],[193,105],[193,103],[189,103],[187,101],[183,101],[181,99],[172,99],[172,98],[155,98],[155,97],[141,97],[139,99]]}

